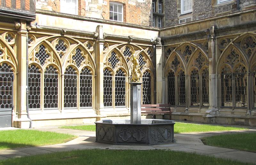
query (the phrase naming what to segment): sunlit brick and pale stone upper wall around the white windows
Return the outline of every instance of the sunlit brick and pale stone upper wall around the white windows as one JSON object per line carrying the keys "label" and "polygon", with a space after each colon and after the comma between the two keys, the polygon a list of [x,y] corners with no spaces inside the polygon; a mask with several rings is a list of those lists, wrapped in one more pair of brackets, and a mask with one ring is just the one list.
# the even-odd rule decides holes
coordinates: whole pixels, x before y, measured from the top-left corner
{"label": "sunlit brick and pale stone upper wall around the white windows", "polygon": [[[151,0],[78,0],[78,15],[109,19],[109,2],[123,4],[123,22],[151,25]],[[59,0],[36,0],[36,9],[60,12]]]}

